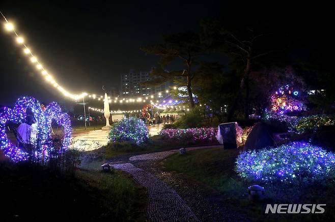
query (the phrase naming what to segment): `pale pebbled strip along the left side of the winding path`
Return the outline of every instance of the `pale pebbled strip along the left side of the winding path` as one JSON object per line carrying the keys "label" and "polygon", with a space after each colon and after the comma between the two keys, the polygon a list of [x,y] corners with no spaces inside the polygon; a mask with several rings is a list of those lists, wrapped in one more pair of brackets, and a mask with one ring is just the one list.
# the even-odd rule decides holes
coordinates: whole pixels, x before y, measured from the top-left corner
{"label": "pale pebbled strip along the left side of the winding path", "polygon": [[148,189],[147,214],[150,221],[199,221],[181,197],[165,182],[132,164],[115,164]]}

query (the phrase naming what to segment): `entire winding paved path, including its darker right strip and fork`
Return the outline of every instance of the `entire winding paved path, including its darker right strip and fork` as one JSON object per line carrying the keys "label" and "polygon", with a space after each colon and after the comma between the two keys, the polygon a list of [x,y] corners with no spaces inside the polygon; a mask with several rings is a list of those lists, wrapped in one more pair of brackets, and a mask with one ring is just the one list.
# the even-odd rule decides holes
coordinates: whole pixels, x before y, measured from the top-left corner
{"label": "entire winding paved path, including its darker right strip and fork", "polygon": [[[192,147],[187,151],[213,147],[217,146]],[[114,167],[128,172],[148,188],[147,213],[151,221],[249,221],[245,215],[229,208],[219,192],[196,181],[186,180],[181,174],[164,171],[157,165],[158,160],[178,151],[124,155],[112,160],[122,163]],[[169,217],[164,217],[164,214]]]}

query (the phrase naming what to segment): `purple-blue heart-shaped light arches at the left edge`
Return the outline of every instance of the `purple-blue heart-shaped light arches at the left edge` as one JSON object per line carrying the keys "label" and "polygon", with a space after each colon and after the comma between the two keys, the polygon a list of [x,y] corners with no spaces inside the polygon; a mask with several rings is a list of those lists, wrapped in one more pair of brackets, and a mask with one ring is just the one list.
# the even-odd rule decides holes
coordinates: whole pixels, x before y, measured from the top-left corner
{"label": "purple-blue heart-shaped light arches at the left edge", "polygon": [[51,103],[46,111],[43,111],[38,100],[32,97],[19,98],[13,109],[4,107],[0,112],[0,149],[14,162],[26,161],[29,159],[27,152],[16,147],[8,140],[6,134],[6,124],[8,122],[22,123],[26,116],[26,110],[30,108],[34,113],[37,123],[36,141],[34,141],[35,153],[33,160],[39,160],[44,150],[47,148],[46,141],[51,136],[50,120],[54,119],[64,127],[64,141],[62,150],[69,147],[71,137],[71,122],[66,113],[61,113],[60,107],[56,103]]}

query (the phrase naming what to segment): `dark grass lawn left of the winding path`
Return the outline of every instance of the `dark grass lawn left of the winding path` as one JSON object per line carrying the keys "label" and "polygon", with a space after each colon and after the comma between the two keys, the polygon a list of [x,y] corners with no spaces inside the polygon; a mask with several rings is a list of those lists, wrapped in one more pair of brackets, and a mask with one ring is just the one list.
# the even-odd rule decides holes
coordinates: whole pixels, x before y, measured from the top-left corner
{"label": "dark grass lawn left of the winding path", "polygon": [[147,192],[126,174],[0,162],[2,221],[145,221]]}

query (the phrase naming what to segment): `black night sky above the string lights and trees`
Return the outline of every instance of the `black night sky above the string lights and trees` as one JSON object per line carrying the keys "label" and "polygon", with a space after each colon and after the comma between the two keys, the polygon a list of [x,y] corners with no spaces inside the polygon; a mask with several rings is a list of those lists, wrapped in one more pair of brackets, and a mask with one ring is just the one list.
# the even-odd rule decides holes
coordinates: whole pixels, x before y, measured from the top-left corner
{"label": "black night sky above the string lights and trees", "polygon": [[[271,4],[263,5],[267,9],[246,6],[241,10],[241,5],[222,1],[94,2],[2,1],[0,10],[15,24],[54,79],[72,93],[102,94],[102,85],[119,88],[120,74],[129,69],[149,71],[158,66],[158,58],[146,55],[140,47],[159,43],[162,34],[197,31],[201,19],[220,14],[231,24],[237,18],[243,20],[259,13],[266,19],[283,22],[295,36],[305,38],[301,40],[304,44],[300,46],[300,55],[301,51],[310,53],[320,48],[316,43],[321,39],[331,39],[331,13],[322,11],[326,6],[311,11]],[[276,9],[280,10],[274,13]],[[3,28],[0,40],[0,105],[11,106],[22,95],[45,102],[64,98],[41,78]]]}

